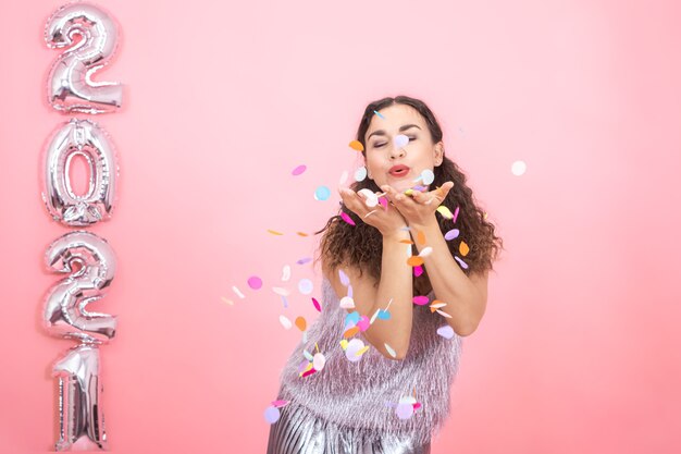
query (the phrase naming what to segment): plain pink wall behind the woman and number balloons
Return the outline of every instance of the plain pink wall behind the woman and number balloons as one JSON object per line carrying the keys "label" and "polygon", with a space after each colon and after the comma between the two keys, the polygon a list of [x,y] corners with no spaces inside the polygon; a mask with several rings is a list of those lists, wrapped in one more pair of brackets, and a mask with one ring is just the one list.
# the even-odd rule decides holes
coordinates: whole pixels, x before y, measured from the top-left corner
{"label": "plain pink wall behind the woman and number balloons", "polygon": [[[67,119],[45,101],[57,52],[42,27],[61,4],[0,7],[3,453],[51,450],[49,370],[72,345],[39,326],[58,279],[42,254],[69,232],[38,177]],[[433,453],[681,450],[678,3],[99,4],[123,41],[95,79],[126,86],[124,109],[95,119],[121,158],[119,205],[89,229],[119,258],[95,308],[120,320],[102,347],[112,451],[264,452],[263,412],[300,341],[278,316],[314,319],[299,279],[320,295],[321,272],[295,263],[317,238],[295,232],[335,212],[366,103],[398,94],[435,111],[507,249]],[[292,290],[288,308],[272,286]]]}

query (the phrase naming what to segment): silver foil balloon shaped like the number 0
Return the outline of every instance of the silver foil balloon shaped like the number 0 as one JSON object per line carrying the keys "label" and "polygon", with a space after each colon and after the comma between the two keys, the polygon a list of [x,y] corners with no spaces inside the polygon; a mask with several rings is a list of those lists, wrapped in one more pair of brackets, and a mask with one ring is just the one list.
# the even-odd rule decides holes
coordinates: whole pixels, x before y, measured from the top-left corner
{"label": "silver foil balloon shaped like the number 0", "polygon": [[[83,156],[89,165],[88,191],[76,195],[69,171],[72,159]],[[115,208],[119,164],[115,148],[95,122],[72,119],[54,131],[44,150],[42,201],[52,219],[70,226],[108,220]]]}

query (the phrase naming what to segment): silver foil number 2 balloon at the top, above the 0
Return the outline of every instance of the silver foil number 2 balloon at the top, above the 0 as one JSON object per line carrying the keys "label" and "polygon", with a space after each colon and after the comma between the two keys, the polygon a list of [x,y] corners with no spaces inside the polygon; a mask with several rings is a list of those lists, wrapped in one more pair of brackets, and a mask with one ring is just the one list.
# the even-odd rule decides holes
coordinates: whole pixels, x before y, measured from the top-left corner
{"label": "silver foil number 2 balloon at the top, above the 0", "polygon": [[[45,26],[45,40],[50,48],[67,49],[48,76],[48,102],[54,109],[104,113],[121,107],[121,84],[90,79],[92,73],[109,64],[119,34],[117,23],[94,4],[70,3],[52,13]],[[82,39],[75,39],[76,35]]]}

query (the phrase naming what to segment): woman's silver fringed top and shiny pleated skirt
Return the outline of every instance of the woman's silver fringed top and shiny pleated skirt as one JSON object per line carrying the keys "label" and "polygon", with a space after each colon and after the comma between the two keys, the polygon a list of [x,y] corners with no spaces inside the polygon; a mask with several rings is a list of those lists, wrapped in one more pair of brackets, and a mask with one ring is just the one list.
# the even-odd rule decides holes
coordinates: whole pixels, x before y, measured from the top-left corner
{"label": "woman's silver fringed top and shiny pleated skirt", "polygon": [[[428,296],[432,302],[434,294]],[[428,305],[414,305],[409,349],[403,360],[386,358],[370,346],[352,363],[340,346],[347,315],[324,278],[321,315],[280,377],[277,398],[289,403],[271,427],[268,454],[429,453],[432,438],[449,416],[461,336],[437,334],[447,324],[445,318]],[[357,338],[370,345],[361,332]],[[304,349],[314,354],[315,343],[326,357],[324,368],[300,377],[301,363],[308,361]],[[421,407],[408,419],[398,418],[395,407],[400,397],[414,395]]]}

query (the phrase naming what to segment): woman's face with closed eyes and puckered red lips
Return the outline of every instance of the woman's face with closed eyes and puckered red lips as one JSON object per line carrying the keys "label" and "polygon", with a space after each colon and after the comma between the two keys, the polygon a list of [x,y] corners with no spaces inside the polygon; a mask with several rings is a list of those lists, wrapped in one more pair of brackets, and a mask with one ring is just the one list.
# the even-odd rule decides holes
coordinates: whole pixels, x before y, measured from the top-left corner
{"label": "woman's face with closed eyes and puckered red lips", "polygon": [[[366,165],[369,177],[379,187],[384,184],[398,192],[423,184],[414,182],[424,170],[442,163],[442,140],[433,144],[425,120],[411,106],[393,105],[374,114],[364,136]],[[409,142],[398,147],[395,137],[405,135]],[[399,144],[398,144],[399,145]]]}

